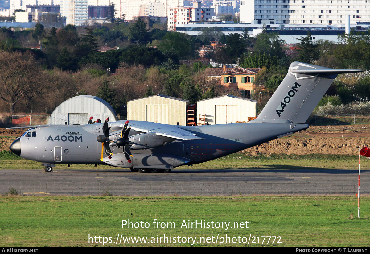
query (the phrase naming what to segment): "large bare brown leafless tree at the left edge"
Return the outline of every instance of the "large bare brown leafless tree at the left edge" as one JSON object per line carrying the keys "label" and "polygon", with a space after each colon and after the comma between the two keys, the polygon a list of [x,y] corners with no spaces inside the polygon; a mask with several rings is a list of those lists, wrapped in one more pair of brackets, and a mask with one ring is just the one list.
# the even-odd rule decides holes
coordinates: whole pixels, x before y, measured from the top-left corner
{"label": "large bare brown leafless tree at the left edge", "polygon": [[0,99],[9,105],[10,113],[21,100],[30,100],[43,90],[42,77],[33,57],[0,51]]}

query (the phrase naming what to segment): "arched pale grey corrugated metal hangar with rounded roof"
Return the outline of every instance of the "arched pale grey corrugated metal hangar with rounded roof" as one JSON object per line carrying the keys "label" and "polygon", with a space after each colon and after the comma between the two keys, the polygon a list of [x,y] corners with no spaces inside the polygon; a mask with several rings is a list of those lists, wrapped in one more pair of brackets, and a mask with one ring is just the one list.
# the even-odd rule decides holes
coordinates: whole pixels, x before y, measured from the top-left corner
{"label": "arched pale grey corrugated metal hangar with rounded roof", "polygon": [[112,106],[102,98],[92,95],[80,95],[61,103],[51,114],[51,124],[87,124],[90,117],[92,121],[104,121],[110,117],[115,121],[117,114]]}

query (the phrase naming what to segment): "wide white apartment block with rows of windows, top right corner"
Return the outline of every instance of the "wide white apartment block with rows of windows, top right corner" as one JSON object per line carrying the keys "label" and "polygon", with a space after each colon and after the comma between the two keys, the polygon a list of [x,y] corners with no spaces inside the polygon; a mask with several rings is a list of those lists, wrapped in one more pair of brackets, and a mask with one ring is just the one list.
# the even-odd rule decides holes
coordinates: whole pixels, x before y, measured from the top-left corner
{"label": "wide white apartment block with rows of windows, top right corner", "polygon": [[[243,4],[244,3],[244,4]],[[275,19],[281,24],[351,24],[370,21],[370,0],[245,0],[240,4],[240,20]]]}

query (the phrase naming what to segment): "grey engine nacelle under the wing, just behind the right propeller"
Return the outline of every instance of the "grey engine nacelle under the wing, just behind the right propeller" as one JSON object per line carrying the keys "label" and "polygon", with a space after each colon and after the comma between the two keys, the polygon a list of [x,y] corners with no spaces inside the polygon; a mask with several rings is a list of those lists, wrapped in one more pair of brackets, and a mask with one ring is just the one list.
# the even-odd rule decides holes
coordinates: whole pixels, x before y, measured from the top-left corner
{"label": "grey engine nacelle under the wing, just behind the right propeller", "polygon": [[130,147],[130,149],[132,150],[149,149],[164,146],[164,143],[174,140],[174,138],[159,136],[157,135],[157,133],[142,133],[129,138],[129,141],[134,143]]}

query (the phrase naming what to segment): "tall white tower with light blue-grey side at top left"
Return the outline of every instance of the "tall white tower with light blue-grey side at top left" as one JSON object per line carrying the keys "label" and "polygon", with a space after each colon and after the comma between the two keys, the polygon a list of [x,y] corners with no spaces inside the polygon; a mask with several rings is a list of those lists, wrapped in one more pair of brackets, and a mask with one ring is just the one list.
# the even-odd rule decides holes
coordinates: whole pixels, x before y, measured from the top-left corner
{"label": "tall white tower with light blue-grey side at top left", "polygon": [[87,22],[87,0],[61,0],[60,13],[66,17],[67,25],[82,26]]}

